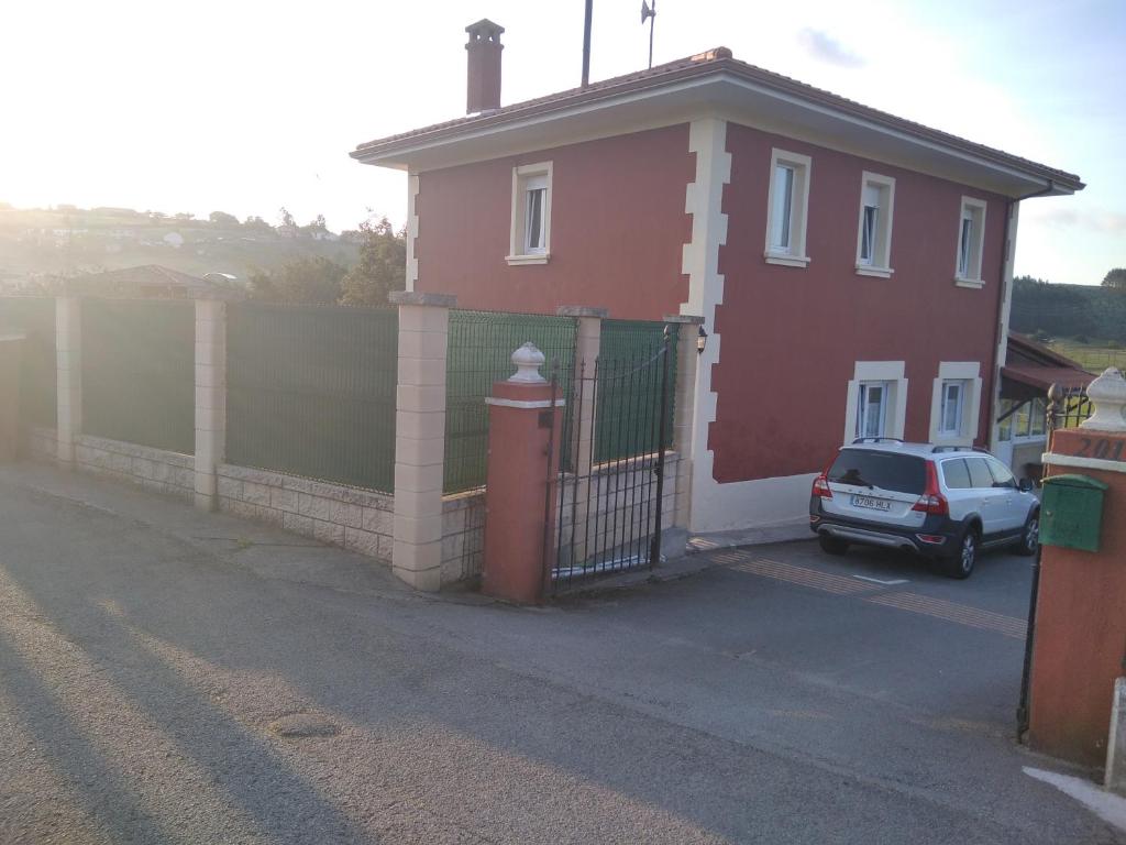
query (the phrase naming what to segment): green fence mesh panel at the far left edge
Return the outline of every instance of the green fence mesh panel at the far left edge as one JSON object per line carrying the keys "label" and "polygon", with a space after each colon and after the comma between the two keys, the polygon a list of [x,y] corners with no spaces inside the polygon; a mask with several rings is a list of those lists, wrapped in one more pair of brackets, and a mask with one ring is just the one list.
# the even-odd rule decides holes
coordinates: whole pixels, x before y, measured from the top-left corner
{"label": "green fence mesh panel at the far left edge", "polygon": [[57,362],[55,301],[44,296],[0,297],[0,331],[21,331],[20,418],[25,425],[55,427]]}

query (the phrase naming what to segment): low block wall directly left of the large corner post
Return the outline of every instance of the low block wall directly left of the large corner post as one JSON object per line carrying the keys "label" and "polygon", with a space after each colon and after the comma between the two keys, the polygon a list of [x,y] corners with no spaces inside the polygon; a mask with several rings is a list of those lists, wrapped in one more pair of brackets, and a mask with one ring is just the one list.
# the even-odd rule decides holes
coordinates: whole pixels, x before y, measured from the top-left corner
{"label": "low block wall directly left of the large corner post", "polygon": [[394,497],[232,464],[216,475],[220,510],[391,563]]}

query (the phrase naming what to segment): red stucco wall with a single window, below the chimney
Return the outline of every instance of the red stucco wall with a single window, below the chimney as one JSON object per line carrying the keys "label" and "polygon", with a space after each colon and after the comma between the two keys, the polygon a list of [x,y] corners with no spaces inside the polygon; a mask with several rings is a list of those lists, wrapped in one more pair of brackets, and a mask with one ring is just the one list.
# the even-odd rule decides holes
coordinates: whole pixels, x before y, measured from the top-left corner
{"label": "red stucco wall with a single window, below the chimney", "polygon": [[[553,162],[551,261],[509,267],[512,168]],[[560,146],[419,176],[417,290],[458,308],[554,313],[607,308],[659,320],[688,299],[688,126]]]}

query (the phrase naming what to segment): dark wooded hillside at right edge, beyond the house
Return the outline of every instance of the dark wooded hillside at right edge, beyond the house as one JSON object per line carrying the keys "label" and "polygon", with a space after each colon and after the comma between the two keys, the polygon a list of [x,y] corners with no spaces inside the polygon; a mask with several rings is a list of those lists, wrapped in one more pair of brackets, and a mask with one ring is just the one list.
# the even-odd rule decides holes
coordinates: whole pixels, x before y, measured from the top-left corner
{"label": "dark wooded hillside at right edge, beyond the house", "polygon": [[1126,344],[1126,291],[1020,277],[1013,281],[1010,326],[1028,335],[1043,329],[1053,337]]}

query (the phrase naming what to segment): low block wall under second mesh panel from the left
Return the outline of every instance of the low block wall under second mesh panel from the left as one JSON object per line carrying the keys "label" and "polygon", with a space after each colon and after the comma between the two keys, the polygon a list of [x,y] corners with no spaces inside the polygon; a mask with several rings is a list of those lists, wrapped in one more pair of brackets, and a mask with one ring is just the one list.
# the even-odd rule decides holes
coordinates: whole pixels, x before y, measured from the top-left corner
{"label": "low block wall under second mesh panel from the left", "polygon": [[88,434],[74,438],[75,468],[190,501],[196,470],[191,455],[109,441]]}

